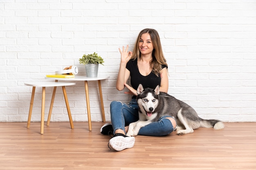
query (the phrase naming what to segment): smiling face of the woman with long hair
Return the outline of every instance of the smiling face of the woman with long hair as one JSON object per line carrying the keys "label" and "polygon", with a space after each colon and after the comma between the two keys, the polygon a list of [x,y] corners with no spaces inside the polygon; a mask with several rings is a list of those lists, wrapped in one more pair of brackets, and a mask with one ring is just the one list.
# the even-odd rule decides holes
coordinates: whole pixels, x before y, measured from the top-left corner
{"label": "smiling face of the woman with long hair", "polygon": [[144,33],[139,39],[139,51],[141,54],[152,54],[154,49],[149,33]]}

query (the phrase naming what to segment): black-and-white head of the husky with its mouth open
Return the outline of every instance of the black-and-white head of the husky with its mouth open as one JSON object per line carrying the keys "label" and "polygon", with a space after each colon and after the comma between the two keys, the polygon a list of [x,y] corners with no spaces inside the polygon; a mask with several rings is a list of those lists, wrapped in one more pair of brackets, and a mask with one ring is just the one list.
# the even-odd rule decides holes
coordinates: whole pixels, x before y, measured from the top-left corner
{"label": "black-and-white head of the husky with its mouth open", "polygon": [[140,84],[137,89],[137,102],[140,108],[140,111],[146,116],[152,116],[155,108],[158,105],[158,95],[159,95],[159,86],[155,88],[155,90],[146,88],[143,89]]}

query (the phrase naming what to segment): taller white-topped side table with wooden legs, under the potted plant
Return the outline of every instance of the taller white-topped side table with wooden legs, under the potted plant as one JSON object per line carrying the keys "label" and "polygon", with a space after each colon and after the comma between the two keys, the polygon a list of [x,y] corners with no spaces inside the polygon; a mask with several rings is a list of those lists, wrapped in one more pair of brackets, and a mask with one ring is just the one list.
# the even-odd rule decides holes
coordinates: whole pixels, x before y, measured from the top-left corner
{"label": "taller white-topped side table with wooden legs, under the potted plant", "polygon": [[99,96],[100,96],[100,100],[101,100],[102,121],[106,122],[104,105],[103,105],[102,90],[101,90],[101,80],[108,79],[109,77],[110,76],[98,76],[98,77],[75,76],[74,78],[56,78],[56,77],[45,77],[45,78],[46,79],[53,79],[53,80],[56,80],[56,81],[58,81],[58,80],[62,80],[62,81],[84,81],[84,83],[85,83],[86,106],[87,106],[87,113],[88,113],[88,125],[89,125],[89,131],[92,131],[88,81],[98,81]]}

